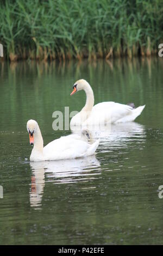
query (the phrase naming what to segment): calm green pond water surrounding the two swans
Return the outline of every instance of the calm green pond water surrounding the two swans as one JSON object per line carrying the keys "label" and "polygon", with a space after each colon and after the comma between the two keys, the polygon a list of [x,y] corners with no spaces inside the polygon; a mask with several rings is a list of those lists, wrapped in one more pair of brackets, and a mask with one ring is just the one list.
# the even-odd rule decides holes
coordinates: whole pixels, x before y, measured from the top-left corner
{"label": "calm green pond water surrounding the two swans", "polygon": [[[96,63],[0,63],[0,244],[162,244],[163,58]],[[28,119],[44,144],[70,131],[52,129],[52,113],[80,111],[70,96],[79,78],[95,103],[146,108],[135,123],[112,125],[97,155],[30,163]]]}

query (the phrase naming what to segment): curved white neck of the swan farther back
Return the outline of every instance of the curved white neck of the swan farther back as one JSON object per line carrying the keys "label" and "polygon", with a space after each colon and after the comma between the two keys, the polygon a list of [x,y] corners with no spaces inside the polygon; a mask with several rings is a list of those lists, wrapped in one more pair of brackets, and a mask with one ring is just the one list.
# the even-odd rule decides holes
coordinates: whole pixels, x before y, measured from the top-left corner
{"label": "curved white neck of the swan farther back", "polygon": [[92,107],[94,105],[93,90],[92,90],[92,88],[91,88],[89,83],[87,83],[87,86],[85,86],[83,89],[84,89],[84,91],[86,93],[86,103],[85,103],[85,106],[83,107],[82,110],[84,110],[84,111],[91,111]]}

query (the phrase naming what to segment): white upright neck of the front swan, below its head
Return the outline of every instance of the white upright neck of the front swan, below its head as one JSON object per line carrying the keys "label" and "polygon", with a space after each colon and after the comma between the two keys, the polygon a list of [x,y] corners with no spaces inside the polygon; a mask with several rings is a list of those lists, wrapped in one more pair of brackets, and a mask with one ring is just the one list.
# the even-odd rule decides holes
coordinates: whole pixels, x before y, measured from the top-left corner
{"label": "white upright neck of the front swan, below its head", "polygon": [[35,128],[34,147],[30,155],[30,159],[32,159],[34,155],[37,155],[39,158],[43,157],[43,139],[42,139],[41,131],[38,124],[36,125],[36,128]]}

